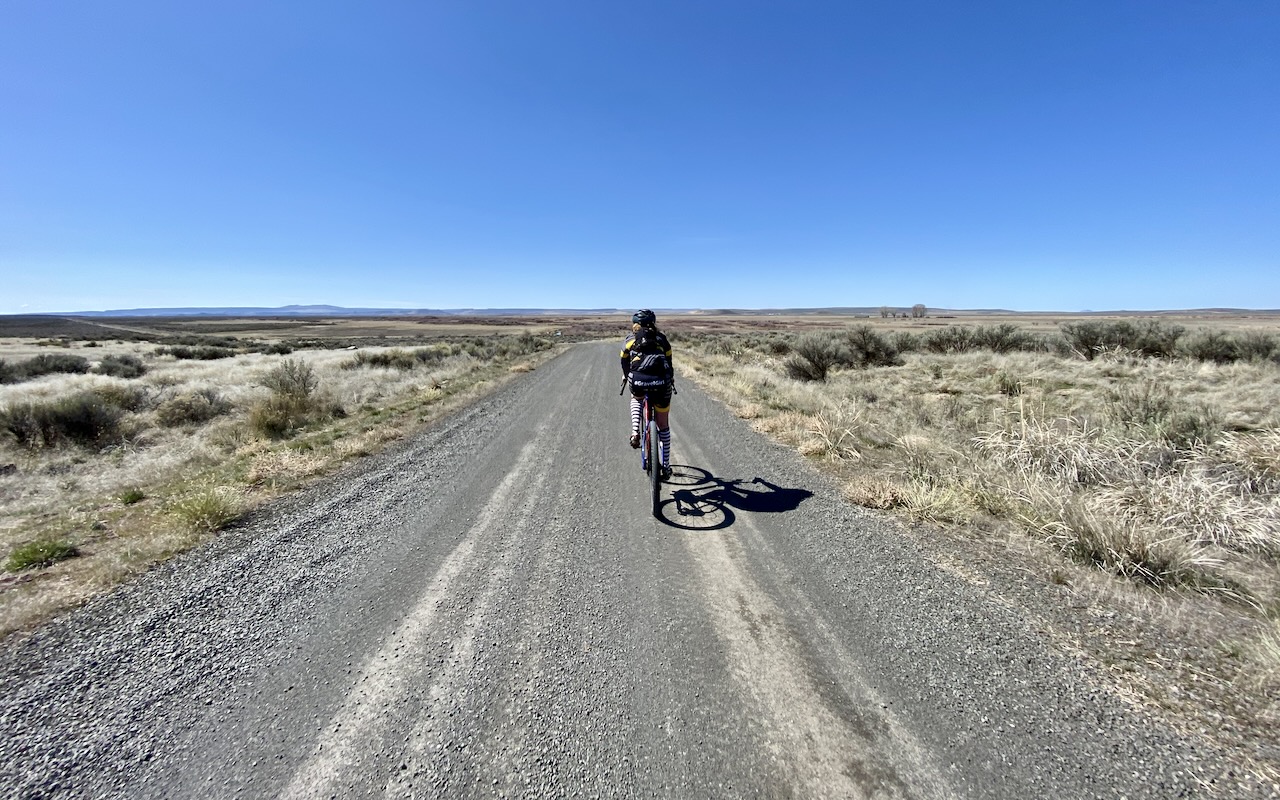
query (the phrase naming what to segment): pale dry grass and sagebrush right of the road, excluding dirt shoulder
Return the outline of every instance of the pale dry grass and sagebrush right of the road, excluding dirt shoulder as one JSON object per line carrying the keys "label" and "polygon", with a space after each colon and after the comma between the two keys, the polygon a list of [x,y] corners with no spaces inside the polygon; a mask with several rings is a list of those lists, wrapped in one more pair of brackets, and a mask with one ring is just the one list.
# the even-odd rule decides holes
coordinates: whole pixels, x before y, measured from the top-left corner
{"label": "pale dry grass and sagebrush right of the road, excluding dirt shoulder", "polygon": [[[1275,334],[1088,320],[1052,334],[692,334],[677,347],[682,375],[852,503],[1041,553],[1048,586],[1112,581],[1226,620],[1220,694],[1257,691],[1222,701],[1280,722]],[[1179,613],[1171,628],[1188,625]]]}

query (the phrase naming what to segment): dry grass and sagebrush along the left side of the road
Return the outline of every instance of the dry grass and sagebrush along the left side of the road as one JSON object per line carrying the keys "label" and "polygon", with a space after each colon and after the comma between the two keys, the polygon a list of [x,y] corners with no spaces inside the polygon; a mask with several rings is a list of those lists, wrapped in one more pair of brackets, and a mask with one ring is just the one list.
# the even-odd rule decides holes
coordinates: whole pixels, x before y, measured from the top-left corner
{"label": "dry grass and sagebrush along the left side of the road", "polygon": [[[554,352],[552,338],[531,334],[317,344],[0,346],[0,636],[204,541]],[[38,352],[51,347],[63,352]]]}

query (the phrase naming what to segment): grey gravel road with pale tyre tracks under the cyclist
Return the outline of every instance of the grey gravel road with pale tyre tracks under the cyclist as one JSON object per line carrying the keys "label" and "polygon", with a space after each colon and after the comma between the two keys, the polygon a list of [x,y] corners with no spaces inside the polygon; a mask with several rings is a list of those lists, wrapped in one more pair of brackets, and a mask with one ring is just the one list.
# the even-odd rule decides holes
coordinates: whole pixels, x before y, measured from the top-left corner
{"label": "grey gravel road with pale tyre tracks under the cyclist", "polygon": [[0,794],[1226,796],[689,383],[653,518],[617,392],[576,346],[10,637]]}

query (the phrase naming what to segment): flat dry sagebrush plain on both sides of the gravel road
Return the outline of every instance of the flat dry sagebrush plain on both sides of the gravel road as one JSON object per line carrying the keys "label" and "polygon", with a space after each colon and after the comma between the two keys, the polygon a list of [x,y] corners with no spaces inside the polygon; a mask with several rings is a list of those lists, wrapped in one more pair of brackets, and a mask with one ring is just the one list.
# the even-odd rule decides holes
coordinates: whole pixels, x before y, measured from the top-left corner
{"label": "flat dry sagebrush plain on both sides of the gravel road", "polygon": [[[1249,791],[1275,788],[1280,365],[1239,352],[1222,362],[1124,347],[1083,353],[1019,337],[1043,344],[1088,323],[1257,346],[1280,337],[1280,315],[682,314],[660,323],[681,380],[826,475],[849,508],[883,518],[931,568],[1084,659],[1146,717],[1225,754],[1251,776]],[[118,411],[90,442],[0,431],[0,554],[52,548],[0,579],[3,630],[35,635],[415,440],[567,344],[618,342],[627,326],[625,315],[0,317],[0,361],[59,355],[88,365],[0,384],[9,422],[18,407],[68,397]],[[1027,348],[928,347],[966,342],[957,330],[1000,329]],[[882,365],[836,364],[820,380],[796,371],[805,343],[847,349],[855,339],[901,347]],[[131,358],[136,375],[95,371]],[[300,384],[301,396],[288,393]],[[1044,465],[1075,471],[1039,472]],[[744,470],[731,477],[748,479]],[[751,509],[745,485],[714,484],[701,517],[696,497],[672,502],[686,503],[686,525],[714,525],[726,508]]]}

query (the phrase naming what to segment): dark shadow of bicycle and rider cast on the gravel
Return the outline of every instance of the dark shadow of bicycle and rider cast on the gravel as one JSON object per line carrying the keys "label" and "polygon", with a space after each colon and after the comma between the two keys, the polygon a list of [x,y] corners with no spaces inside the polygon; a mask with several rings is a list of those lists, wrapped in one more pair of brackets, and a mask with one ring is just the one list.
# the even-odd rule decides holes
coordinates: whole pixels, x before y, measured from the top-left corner
{"label": "dark shadow of bicycle and rider cast on the gravel", "polygon": [[682,530],[721,530],[733,524],[733,509],[754,513],[795,511],[808,489],[786,489],[763,477],[716,477],[701,467],[672,465],[667,481],[671,498],[663,500],[658,518]]}

